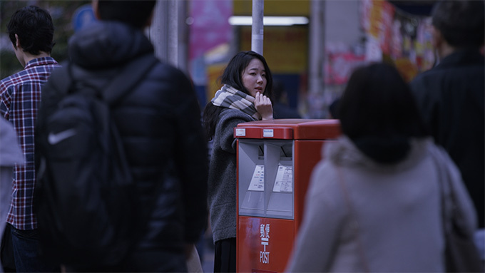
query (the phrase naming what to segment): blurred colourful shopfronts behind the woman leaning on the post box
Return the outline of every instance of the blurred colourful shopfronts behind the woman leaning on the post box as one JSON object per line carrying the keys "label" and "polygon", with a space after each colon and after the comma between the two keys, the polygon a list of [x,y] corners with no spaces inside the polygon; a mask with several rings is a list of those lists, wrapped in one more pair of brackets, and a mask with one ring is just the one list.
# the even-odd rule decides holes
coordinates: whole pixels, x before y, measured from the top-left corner
{"label": "blurred colourful shopfronts behind the woman leaning on the post box", "polygon": [[[252,1],[189,4],[187,71],[202,104],[218,90],[228,58],[251,49]],[[433,3],[265,0],[262,54],[284,87],[285,103],[303,118],[329,118],[328,106],[355,66],[392,61],[408,80],[430,68]]]}

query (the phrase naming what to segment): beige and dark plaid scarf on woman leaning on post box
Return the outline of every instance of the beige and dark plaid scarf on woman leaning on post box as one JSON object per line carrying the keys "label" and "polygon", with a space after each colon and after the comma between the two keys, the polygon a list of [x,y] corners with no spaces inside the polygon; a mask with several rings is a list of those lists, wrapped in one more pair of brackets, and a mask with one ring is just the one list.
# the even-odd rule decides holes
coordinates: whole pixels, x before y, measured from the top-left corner
{"label": "beige and dark plaid scarf on woman leaning on post box", "polygon": [[255,98],[227,84],[215,92],[211,102],[215,106],[241,110],[252,118],[261,120],[261,115],[255,108]]}

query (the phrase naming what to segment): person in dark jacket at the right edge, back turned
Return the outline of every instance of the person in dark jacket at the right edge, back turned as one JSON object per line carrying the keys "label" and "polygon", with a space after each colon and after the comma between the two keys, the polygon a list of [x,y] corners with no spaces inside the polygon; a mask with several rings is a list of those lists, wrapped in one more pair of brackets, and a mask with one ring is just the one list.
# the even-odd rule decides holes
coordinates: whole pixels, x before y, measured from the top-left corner
{"label": "person in dark jacket at the right edge, back turned", "polygon": [[[438,65],[411,83],[424,123],[456,163],[479,220],[485,260],[484,1],[440,1],[432,11]],[[481,235],[480,235],[481,233]]]}

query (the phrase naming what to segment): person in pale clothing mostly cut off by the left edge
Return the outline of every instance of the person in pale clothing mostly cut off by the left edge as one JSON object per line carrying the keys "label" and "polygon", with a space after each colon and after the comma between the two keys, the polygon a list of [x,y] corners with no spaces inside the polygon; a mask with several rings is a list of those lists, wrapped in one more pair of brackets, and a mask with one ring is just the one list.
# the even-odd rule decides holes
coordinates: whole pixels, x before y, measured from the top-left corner
{"label": "person in pale clothing mostly cut off by the left edge", "polygon": [[[24,164],[24,153],[14,126],[0,116],[0,244],[4,237],[6,215],[12,200],[14,166]],[[3,272],[0,257],[0,272]]]}

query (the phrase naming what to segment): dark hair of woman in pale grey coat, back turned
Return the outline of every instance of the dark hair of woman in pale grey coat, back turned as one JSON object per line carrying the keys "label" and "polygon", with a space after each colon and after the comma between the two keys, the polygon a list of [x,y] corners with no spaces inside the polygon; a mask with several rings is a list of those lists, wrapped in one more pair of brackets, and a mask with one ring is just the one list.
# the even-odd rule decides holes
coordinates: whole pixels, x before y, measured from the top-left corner
{"label": "dark hair of woman in pale grey coat, back turned", "polygon": [[388,63],[357,68],[340,98],[342,133],[379,163],[397,163],[409,152],[410,138],[428,134],[408,84]]}

